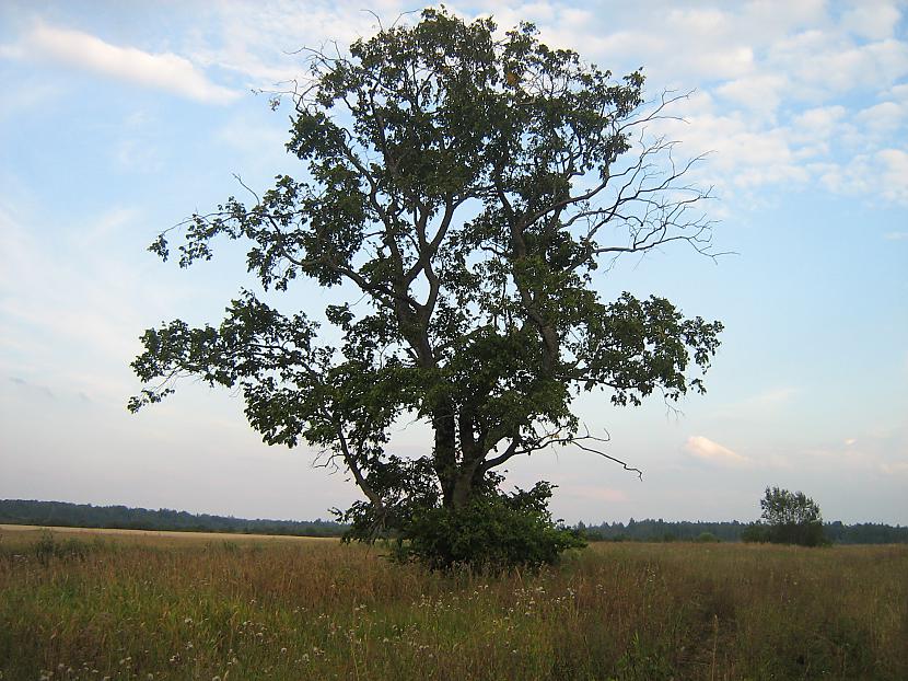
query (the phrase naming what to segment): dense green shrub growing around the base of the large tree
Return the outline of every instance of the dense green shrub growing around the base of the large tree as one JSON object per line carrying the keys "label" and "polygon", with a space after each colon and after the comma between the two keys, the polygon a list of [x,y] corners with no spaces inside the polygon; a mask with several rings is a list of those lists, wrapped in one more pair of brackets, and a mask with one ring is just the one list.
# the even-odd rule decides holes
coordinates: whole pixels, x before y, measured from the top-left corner
{"label": "dense green shrub growing around the base of the large tree", "polygon": [[418,561],[431,569],[499,572],[537,569],[586,542],[575,530],[558,527],[546,509],[548,483],[513,495],[491,494],[462,508],[439,506],[417,512],[395,544],[393,557]]}

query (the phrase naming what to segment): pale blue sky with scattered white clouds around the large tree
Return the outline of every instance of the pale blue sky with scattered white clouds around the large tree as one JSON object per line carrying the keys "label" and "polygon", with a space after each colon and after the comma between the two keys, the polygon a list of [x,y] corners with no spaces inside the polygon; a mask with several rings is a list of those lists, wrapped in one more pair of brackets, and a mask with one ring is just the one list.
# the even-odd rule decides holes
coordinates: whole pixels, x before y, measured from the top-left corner
{"label": "pale blue sky with scattered white clouds around the large tree", "polygon": [[[184,383],[138,415],[129,363],[171,319],[218,323],[240,251],[183,270],[147,251],[195,210],[300,173],[268,96],[294,51],[372,35],[395,0],[0,3],[0,498],[329,517],[358,493],[315,452],[267,447],[242,397]],[[767,486],[827,520],[908,524],[908,4],[452,2],[537,24],[647,93],[689,93],[665,134],[708,153],[712,262],[666,247],[597,280],[725,324],[708,393],[666,408],[584,399],[608,453],[540,452],[509,485],[556,485],[568,522],[753,520]],[[290,297],[317,310],[334,293]],[[284,310],[294,311],[294,310]],[[428,431],[401,425],[403,451]]]}

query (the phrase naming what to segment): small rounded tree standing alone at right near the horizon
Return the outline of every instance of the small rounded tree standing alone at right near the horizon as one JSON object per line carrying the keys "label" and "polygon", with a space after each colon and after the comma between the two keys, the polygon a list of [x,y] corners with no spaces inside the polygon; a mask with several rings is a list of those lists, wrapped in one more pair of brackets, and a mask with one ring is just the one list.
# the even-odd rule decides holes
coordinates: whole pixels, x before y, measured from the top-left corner
{"label": "small rounded tree standing alone at right near the horizon", "polygon": [[760,521],[742,533],[744,541],[818,546],[825,542],[819,506],[803,492],[766,488]]}

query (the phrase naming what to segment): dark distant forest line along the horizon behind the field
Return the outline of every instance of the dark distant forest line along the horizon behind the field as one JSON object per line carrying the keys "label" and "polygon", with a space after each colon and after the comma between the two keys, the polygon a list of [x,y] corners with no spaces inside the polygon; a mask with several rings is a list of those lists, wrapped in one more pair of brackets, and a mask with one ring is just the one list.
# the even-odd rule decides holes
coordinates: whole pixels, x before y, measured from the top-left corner
{"label": "dark distant forest line along the horizon behind the field", "polygon": [[[166,508],[149,510],[126,506],[92,506],[66,501],[0,499],[0,523],[42,527],[112,528],[120,530],[176,530],[183,532],[235,532],[240,534],[293,534],[340,536],[347,526],[331,520],[246,520]],[[746,522],[691,522],[635,520],[575,526],[590,541],[741,541]],[[908,527],[863,522],[824,524],[826,538],[836,544],[908,543]]]}

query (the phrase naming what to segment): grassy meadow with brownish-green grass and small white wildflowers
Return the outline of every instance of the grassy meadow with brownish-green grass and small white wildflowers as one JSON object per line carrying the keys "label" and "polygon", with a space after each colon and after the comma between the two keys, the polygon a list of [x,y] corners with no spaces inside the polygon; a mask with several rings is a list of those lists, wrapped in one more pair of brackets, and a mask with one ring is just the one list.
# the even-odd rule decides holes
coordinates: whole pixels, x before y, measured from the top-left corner
{"label": "grassy meadow with brownish-green grass and small white wildflowers", "polygon": [[331,540],[0,528],[2,679],[908,679],[908,546],[599,544],[455,577]]}

